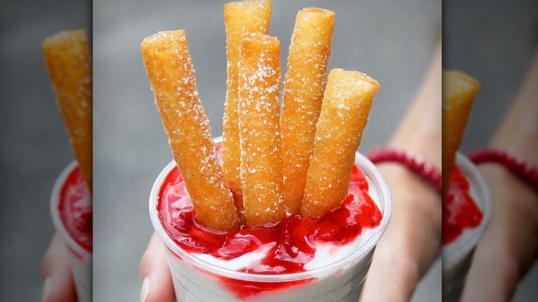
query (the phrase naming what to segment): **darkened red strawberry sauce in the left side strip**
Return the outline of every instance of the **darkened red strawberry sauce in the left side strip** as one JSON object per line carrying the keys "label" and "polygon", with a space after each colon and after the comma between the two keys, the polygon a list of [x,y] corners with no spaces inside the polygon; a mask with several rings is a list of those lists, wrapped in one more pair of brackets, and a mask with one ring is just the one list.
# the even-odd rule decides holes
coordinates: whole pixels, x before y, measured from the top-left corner
{"label": "darkened red strawberry sauce in the left side strip", "polygon": [[61,221],[81,247],[92,252],[92,198],[77,165],[61,186],[58,210]]}

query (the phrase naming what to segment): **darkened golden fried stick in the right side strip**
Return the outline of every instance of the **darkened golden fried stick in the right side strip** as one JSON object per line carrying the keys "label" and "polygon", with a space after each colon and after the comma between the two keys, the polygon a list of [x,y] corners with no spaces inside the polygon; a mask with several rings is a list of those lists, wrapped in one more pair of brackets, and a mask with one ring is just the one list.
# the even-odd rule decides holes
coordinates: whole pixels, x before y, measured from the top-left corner
{"label": "darkened golden fried stick in the right side strip", "polygon": [[450,185],[452,166],[464,135],[472,100],[480,83],[463,72],[443,70],[443,198]]}

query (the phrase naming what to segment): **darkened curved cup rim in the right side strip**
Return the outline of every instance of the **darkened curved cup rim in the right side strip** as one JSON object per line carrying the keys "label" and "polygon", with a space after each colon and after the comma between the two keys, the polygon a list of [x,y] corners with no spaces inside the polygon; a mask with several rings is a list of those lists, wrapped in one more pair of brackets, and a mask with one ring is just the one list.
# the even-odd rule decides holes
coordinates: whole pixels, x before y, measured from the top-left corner
{"label": "darkened curved cup rim in the right side strip", "polygon": [[456,154],[456,163],[461,172],[465,174],[468,181],[475,184],[475,190],[479,195],[479,201],[475,201],[475,203],[477,203],[482,212],[482,221],[476,228],[473,228],[472,230],[464,230],[464,232],[472,231],[472,233],[468,235],[468,239],[463,243],[463,247],[453,250],[454,252],[452,252],[452,249],[448,250],[448,246],[454,242],[443,247],[443,267],[447,268],[446,270],[453,268],[457,263],[464,261],[466,256],[468,256],[468,254],[476,247],[491,221],[493,210],[489,185],[477,166],[460,152],[457,152]]}

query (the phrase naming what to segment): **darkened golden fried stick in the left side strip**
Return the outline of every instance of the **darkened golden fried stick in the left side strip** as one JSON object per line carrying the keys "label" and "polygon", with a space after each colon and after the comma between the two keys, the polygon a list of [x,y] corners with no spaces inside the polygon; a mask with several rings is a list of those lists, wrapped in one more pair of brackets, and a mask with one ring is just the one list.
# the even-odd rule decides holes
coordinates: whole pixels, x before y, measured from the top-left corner
{"label": "darkened golden fried stick in the left side strip", "polygon": [[74,158],[92,192],[92,59],[88,32],[54,34],[43,41],[43,54]]}

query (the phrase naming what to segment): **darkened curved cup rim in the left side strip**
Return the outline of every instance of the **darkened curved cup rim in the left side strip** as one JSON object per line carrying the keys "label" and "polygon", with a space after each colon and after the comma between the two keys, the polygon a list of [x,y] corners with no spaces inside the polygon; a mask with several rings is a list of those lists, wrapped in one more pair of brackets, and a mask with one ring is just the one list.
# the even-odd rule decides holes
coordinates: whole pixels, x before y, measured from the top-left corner
{"label": "darkened curved cup rim in the left side strip", "polygon": [[92,252],[89,252],[88,250],[84,249],[69,234],[68,230],[66,229],[66,226],[63,224],[63,221],[61,220],[60,212],[58,209],[61,187],[63,186],[63,183],[66,182],[66,179],[69,177],[71,172],[75,168],[77,168],[77,166],[78,166],[78,163],[76,160],[71,161],[66,166],[66,168],[63,168],[63,170],[61,171],[61,174],[54,182],[54,186],[52,187],[52,193],[50,194],[50,216],[52,217],[52,223],[54,224],[54,228],[56,228],[56,231],[60,234],[61,239],[63,240],[64,243],[66,243],[68,248],[70,248],[75,253],[82,256],[83,259],[92,259]]}

